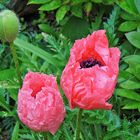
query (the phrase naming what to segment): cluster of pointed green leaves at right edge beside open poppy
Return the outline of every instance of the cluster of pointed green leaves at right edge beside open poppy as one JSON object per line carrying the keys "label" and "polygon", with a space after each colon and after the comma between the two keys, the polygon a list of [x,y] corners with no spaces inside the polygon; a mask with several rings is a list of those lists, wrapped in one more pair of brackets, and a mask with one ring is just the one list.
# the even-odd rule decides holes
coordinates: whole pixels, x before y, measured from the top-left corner
{"label": "cluster of pointed green leaves at right edge beside open poppy", "polygon": [[116,89],[116,94],[124,97],[121,104],[123,109],[138,109],[140,111],[140,95],[138,92],[140,89],[140,56],[129,55],[123,60],[129,65],[126,69],[128,72],[120,74],[119,86],[121,88]]}

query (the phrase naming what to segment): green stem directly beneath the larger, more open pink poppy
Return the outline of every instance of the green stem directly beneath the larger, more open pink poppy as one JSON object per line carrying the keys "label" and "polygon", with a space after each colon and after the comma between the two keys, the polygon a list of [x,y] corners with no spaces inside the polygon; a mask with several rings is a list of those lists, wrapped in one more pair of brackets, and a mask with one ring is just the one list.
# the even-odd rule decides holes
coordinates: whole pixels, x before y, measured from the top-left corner
{"label": "green stem directly beneath the larger, more open pink poppy", "polygon": [[83,109],[79,109],[79,111],[77,113],[75,140],[80,140],[80,128],[81,128],[82,112],[83,112]]}

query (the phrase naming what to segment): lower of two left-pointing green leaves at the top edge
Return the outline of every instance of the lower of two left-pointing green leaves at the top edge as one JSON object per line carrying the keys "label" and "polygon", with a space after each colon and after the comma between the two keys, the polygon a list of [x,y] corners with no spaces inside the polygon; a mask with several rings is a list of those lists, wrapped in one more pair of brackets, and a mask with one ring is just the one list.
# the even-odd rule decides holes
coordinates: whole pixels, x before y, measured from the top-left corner
{"label": "lower of two left-pointing green leaves at the top edge", "polygon": [[61,6],[61,0],[52,0],[50,3],[44,4],[39,8],[42,11],[52,11]]}

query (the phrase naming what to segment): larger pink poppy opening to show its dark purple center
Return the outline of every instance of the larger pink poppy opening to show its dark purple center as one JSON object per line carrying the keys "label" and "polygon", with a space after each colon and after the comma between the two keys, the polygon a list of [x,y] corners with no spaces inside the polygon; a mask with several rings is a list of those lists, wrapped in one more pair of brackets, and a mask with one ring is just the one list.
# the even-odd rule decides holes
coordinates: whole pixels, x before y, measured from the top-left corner
{"label": "larger pink poppy opening to show its dark purple center", "polygon": [[119,71],[120,51],[108,48],[104,30],[76,40],[61,76],[61,87],[71,109],[111,109]]}

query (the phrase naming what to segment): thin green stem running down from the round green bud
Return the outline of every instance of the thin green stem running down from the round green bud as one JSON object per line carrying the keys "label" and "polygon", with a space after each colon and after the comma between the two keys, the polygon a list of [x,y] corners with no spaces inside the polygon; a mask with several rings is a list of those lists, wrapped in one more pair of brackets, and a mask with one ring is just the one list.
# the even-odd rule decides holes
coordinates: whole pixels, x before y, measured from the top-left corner
{"label": "thin green stem running down from the round green bud", "polygon": [[11,49],[11,52],[12,52],[12,55],[13,55],[13,59],[14,59],[15,67],[16,67],[16,72],[17,72],[17,76],[18,76],[18,81],[19,81],[19,84],[20,84],[20,87],[21,87],[22,79],[21,79],[21,74],[20,74],[20,70],[19,70],[19,62],[18,62],[18,57],[17,57],[16,49],[14,47],[13,42],[10,43],[10,49]]}

